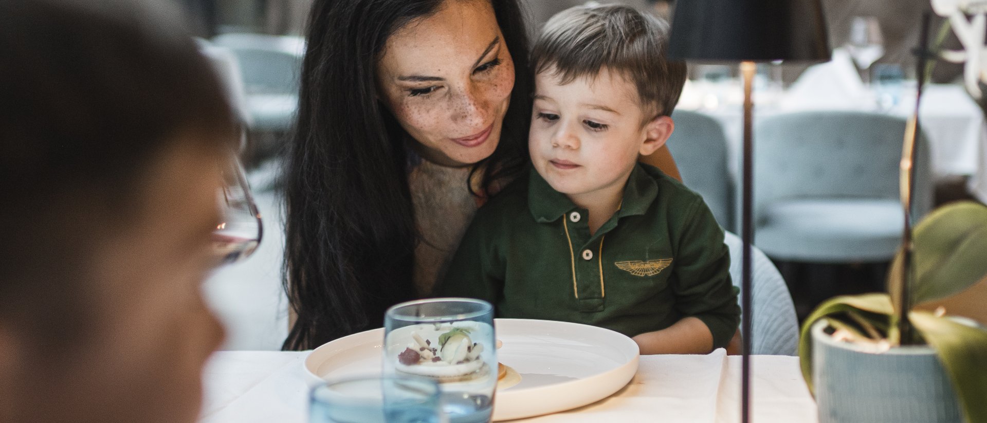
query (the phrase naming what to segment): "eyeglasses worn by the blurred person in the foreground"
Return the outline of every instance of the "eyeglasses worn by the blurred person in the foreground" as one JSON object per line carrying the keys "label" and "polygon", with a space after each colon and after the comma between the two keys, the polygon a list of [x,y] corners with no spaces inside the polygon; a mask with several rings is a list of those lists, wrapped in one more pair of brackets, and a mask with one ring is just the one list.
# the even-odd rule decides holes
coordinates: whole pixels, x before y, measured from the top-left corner
{"label": "eyeglasses worn by the blurred person in the foreground", "polygon": [[222,221],[212,233],[213,247],[222,264],[250,256],[261,244],[264,227],[243,166],[235,154],[224,158],[223,186],[219,190]]}

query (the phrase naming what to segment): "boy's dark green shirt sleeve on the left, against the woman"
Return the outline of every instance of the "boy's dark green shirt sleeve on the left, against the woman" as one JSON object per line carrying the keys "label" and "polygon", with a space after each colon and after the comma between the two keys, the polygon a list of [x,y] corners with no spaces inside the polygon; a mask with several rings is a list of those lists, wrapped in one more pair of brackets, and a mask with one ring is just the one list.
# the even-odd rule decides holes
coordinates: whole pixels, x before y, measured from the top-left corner
{"label": "boy's dark green shirt sleeve on the left, against the woman", "polygon": [[481,209],[463,235],[449,262],[445,277],[434,289],[437,297],[466,297],[487,301],[496,306],[503,291],[503,266],[497,265],[499,233],[492,225],[496,216]]}

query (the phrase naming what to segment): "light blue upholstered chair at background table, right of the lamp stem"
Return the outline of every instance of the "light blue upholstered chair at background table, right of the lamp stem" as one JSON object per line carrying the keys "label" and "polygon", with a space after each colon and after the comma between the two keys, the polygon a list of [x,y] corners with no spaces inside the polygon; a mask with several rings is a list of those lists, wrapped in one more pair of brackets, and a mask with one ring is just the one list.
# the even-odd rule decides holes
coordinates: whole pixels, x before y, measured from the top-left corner
{"label": "light blue upholstered chair at background table, right of the lamp stem", "polygon": [[[773,258],[889,260],[901,243],[898,165],[905,119],[860,111],[764,118],[754,131],[755,241]],[[932,208],[929,147],[919,140],[913,214]]]}

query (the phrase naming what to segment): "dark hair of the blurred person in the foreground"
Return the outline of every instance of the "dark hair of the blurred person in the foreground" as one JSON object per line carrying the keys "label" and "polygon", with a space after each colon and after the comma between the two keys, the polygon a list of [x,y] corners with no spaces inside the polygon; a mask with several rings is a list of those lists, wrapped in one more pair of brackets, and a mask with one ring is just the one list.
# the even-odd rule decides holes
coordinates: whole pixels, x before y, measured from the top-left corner
{"label": "dark hair of the blurred person in the foreground", "polygon": [[122,1],[0,1],[0,318],[70,342],[90,237],[113,236],[95,228],[126,223],[167,147],[235,141],[181,19]]}

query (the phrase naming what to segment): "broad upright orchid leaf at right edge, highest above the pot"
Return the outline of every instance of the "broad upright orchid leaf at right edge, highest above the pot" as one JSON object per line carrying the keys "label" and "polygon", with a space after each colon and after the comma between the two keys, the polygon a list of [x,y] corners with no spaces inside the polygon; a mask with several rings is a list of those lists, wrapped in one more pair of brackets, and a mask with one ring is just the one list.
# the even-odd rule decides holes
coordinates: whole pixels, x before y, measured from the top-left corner
{"label": "broad upright orchid leaf at right edge, highest above the pot", "polygon": [[[987,276],[987,206],[960,201],[941,207],[915,227],[912,243],[909,309],[958,294]],[[892,298],[901,290],[901,260],[899,251],[888,275]]]}

